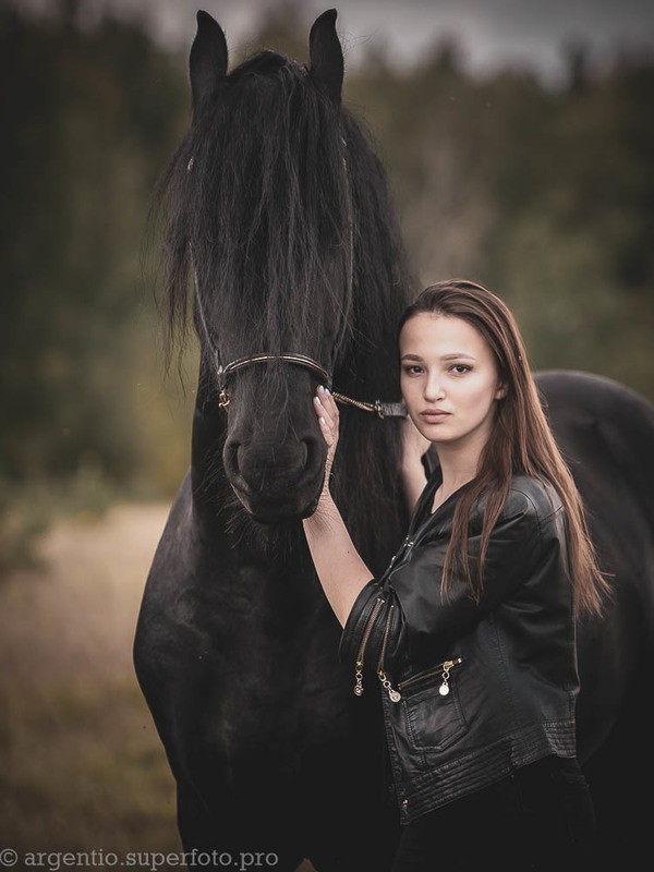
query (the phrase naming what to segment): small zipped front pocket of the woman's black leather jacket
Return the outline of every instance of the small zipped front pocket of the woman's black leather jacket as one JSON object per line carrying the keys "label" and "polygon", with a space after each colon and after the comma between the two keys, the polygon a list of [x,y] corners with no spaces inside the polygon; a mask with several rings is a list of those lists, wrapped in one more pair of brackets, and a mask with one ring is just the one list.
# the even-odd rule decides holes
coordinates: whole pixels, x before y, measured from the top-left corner
{"label": "small zipped front pocket of the woman's black leather jacket", "polygon": [[443,751],[468,731],[457,673],[461,657],[445,661],[398,685],[407,736],[419,751]]}

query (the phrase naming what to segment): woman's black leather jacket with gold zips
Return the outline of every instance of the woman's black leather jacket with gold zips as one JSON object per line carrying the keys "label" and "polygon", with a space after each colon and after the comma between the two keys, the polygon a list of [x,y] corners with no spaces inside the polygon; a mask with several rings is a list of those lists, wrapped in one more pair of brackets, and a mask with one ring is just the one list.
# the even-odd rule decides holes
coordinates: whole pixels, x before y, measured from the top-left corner
{"label": "woman's black leather jacket with gold zips", "polygon": [[[408,823],[548,754],[576,756],[579,691],[565,512],[549,485],[516,476],[492,532],[481,602],[440,572],[453,494],[433,514],[432,475],[384,576],[359,594],[340,657],[354,692],[382,682],[392,780]],[[471,512],[474,572],[482,505]]]}

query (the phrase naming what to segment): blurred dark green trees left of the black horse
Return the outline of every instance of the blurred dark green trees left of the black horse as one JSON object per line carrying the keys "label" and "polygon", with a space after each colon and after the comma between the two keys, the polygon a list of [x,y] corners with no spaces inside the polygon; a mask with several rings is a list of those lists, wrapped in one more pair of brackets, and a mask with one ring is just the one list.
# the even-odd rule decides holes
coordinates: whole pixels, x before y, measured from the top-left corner
{"label": "blurred dark green trees left of the black horse", "polygon": [[133,25],[82,31],[68,2],[39,22],[2,9],[0,81],[3,473],[90,464],[125,484],[161,435],[137,433],[154,339],[140,257],[184,76]]}

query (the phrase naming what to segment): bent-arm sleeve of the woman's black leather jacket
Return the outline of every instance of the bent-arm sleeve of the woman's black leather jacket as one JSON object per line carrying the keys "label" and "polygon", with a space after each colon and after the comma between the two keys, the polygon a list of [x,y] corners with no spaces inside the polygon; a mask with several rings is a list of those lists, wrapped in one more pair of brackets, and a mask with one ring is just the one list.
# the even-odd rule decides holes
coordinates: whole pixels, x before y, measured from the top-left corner
{"label": "bent-arm sleeve of the woman's black leather jacket", "polygon": [[[481,528],[481,523],[479,524]],[[411,659],[429,659],[450,647],[533,573],[541,554],[546,549],[541,536],[538,513],[523,494],[513,494],[496,523],[486,550],[484,589],[476,603],[463,578],[455,570],[447,594],[440,581],[449,537],[434,537],[419,543],[398,559],[397,567],[385,574],[385,602],[375,615],[374,626],[367,628],[366,661],[375,662],[386,635],[387,662],[402,654]],[[481,544],[481,529],[469,535],[469,558],[474,574]],[[364,596],[364,594],[367,594]],[[379,582],[363,589],[350,613],[341,638],[342,659],[354,664],[356,642],[370,625],[373,613],[371,597],[378,597]],[[387,620],[390,606],[393,620]],[[384,630],[390,627],[392,638]]]}

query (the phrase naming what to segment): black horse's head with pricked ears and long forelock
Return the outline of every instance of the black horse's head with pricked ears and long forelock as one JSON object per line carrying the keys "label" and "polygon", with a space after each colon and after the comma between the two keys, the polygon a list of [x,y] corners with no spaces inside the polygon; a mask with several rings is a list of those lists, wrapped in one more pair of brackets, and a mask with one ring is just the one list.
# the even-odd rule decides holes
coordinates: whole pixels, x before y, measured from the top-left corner
{"label": "black horse's head with pricked ears and long forelock", "polygon": [[169,324],[193,294],[198,410],[220,407],[213,449],[266,523],[315,509],[318,384],[399,398],[395,325],[410,281],[384,170],[341,99],[336,17],[313,23],[307,64],[265,50],[228,72],[225,33],[198,12],[192,124],[164,184]]}

